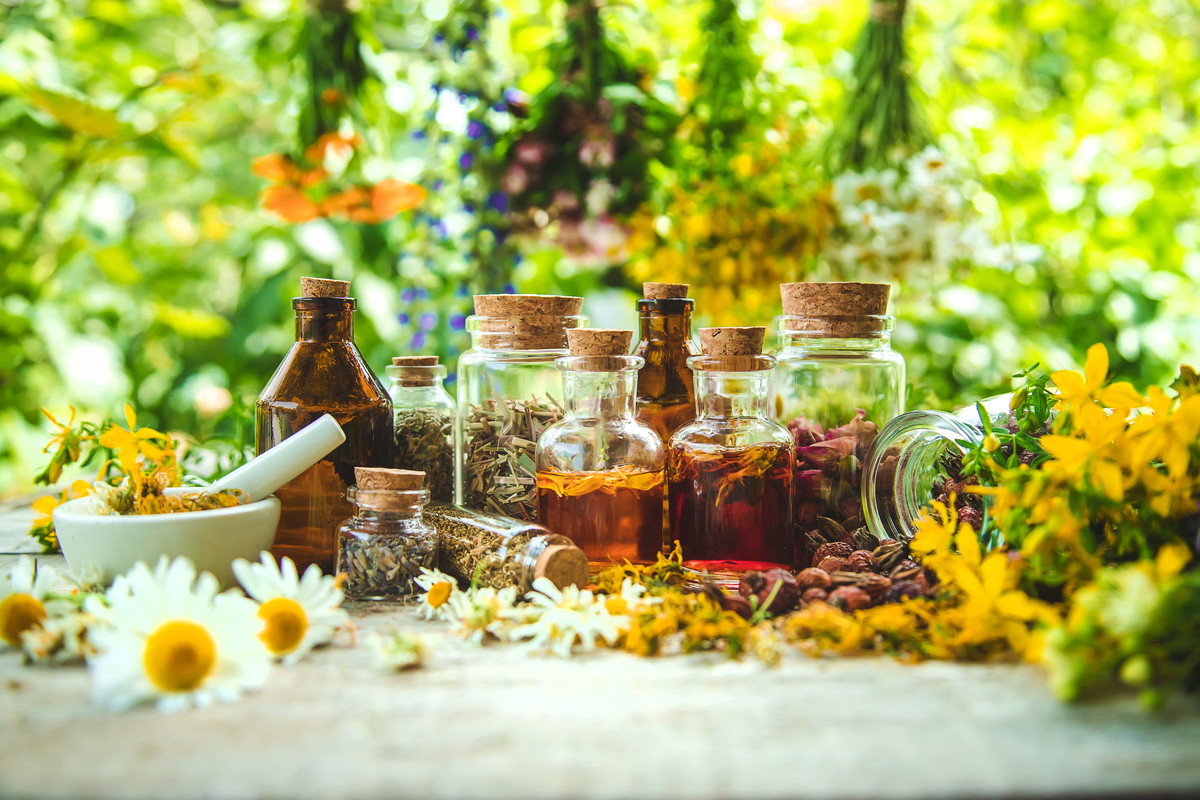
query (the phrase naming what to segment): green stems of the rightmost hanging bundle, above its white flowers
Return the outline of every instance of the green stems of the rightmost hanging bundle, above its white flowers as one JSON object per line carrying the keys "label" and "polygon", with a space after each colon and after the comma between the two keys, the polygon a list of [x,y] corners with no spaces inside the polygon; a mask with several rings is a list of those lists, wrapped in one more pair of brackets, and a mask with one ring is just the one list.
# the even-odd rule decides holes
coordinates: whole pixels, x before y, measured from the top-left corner
{"label": "green stems of the rightmost hanging bundle, above its white flowers", "polygon": [[907,5],[907,0],[870,0],[866,24],[854,46],[845,107],[822,148],[821,160],[829,175],[883,169],[928,143],[908,85],[904,48]]}

